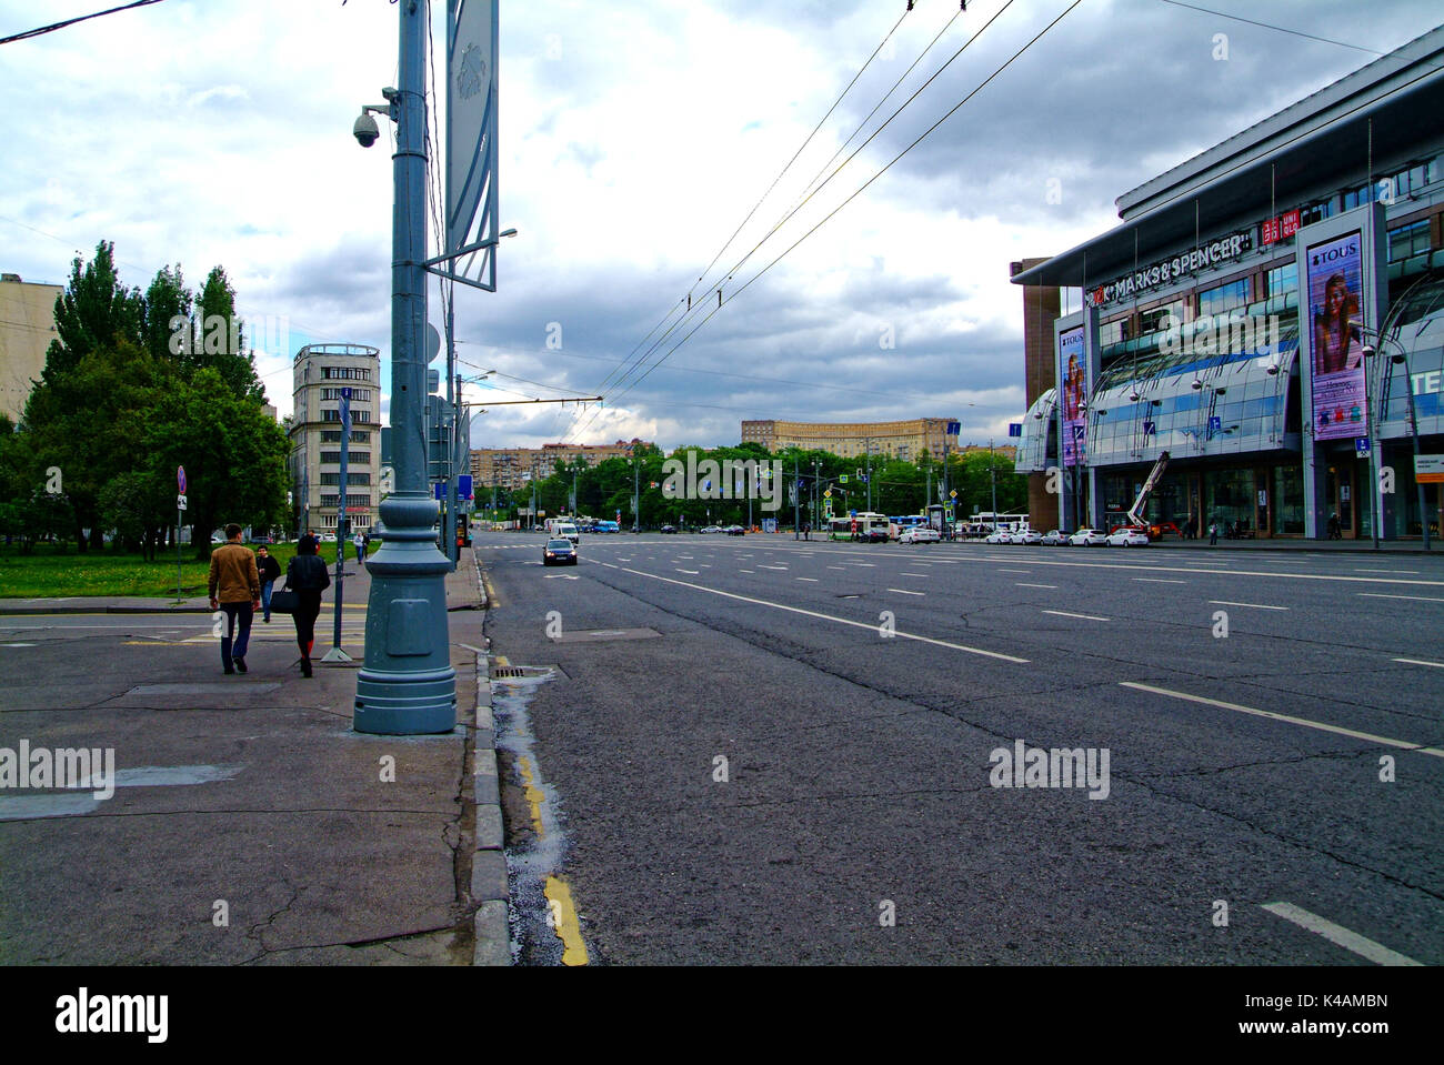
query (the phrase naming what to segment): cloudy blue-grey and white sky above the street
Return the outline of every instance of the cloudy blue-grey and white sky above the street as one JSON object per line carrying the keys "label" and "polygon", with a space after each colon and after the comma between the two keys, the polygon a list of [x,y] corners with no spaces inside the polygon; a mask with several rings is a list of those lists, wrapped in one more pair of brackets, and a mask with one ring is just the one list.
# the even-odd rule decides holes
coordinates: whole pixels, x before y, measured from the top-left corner
{"label": "cloudy blue-grey and white sky above the street", "polygon": [[[973,0],[953,20],[956,0],[917,0],[905,16],[904,0],[501,0],[501,224],[520,235],[501,248],[497,293],[458,289],[456,335],[464,374],[510,377],[466,394],[606,403],[495,407],[474,444],[725,444],[758,417],[946,416],[965,442],[1005,437],[1024,410],[1009,261],[1110,228],[1116,196],[1440,20],[1437,0],[1197,4],[1217,13],[1082,0],[748,284],[1069,1]],[[0,36],[107,6],[0,0]],[[439,35],[443,0],[433,7]],[[676,346],[814,176],[965,43]],[[199,287],[224,266],[263,326],[258,369],[282,413],[299,345],[370,343],[388,359],[390,141],[383,130],[362,152],[351,123],[394,84],[396,56],[387,0],[165,0],[0,46],[0,268],[64,283],[98,240],[116,242],[127,284],[179,263]],[[628,387],[641,371],[624,377],[624,362],[689,292],[702,310]],[[432,312],[439,322],[435,297]]]}

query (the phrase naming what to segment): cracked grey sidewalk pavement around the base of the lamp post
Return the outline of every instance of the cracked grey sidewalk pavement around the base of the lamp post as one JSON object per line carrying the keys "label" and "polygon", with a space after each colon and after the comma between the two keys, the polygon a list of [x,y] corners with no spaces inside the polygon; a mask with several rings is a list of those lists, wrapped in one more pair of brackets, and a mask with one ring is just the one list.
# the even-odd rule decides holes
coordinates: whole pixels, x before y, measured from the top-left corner
{"label": "cracked grey sidewalk pavement around the base of the lamp post", "polygon": [[137,623],[104,644],[38,641],[43,657],[26,654],[43,665],[0,688],[0,746],[113,749],[117,786],[0,792],[0,964],[510,964],[469,550],[445,583],[458,701],[445,736],[351,730],[365,573],[345,583],[355,661],[319,661],[328,592],[312,680],[286,615],[257,619],[250,672],[231,677],[199,618],[163,638]]}

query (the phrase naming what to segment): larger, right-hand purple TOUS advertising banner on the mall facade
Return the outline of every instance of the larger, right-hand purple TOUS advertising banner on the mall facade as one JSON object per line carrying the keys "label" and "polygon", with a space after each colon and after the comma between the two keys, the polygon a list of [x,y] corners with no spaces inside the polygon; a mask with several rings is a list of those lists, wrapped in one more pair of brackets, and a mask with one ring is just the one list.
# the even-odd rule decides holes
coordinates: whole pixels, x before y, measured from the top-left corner
{"label": "larger, right-hand purple TOUS advertising banner on the mall facade", "polygon": [[1365,401],[1363,240],[1359,231],[1311,245],[1308,328],[1313,339],[1313,418],[1315,440],[1346,440],[1369,434]]}

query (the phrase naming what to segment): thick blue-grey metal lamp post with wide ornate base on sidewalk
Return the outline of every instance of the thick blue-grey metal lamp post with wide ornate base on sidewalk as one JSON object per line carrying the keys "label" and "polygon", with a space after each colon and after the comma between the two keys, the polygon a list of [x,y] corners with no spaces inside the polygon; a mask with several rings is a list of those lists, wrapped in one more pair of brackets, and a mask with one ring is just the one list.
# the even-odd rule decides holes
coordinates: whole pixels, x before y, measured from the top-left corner
{"label": "thick blue-grey metal lamp post with wide ornate base on sidewalk", "polygon": [[[352,727],[386,736],[456,727],[445,576],[426,478],[426,4],[400,3],[391,255],[391,426],[396,492],[381,502],[381,548],[367,560],[365,664]],[[344,489],[342,489],[344,491]]]}

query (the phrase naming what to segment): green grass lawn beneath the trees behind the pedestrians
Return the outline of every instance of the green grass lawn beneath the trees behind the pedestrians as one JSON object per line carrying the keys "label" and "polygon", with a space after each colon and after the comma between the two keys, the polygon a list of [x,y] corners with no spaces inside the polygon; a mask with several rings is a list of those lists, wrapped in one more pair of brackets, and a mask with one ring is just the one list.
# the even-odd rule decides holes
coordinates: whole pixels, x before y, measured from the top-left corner
{"label": "green grass lawn beneath the trees behind the pedestrians", "polygon": [[[380,544],[373,541],[373,550]],[[322,544],[321,554],[328,564],[335,563],[336,545]],[[254,548],[253,548],[254,550]],[[280,563],[284,580],[286,563],[296,554],[295,544],[276,544],[271,557]],[[204,596],[209,563],[195,560],[195,548],[180,547],[180,595]],[[347,558],[354,558],[347,545]],[[277,582],[277,586],[282,582]],[[79,554],[71,544],[64,553],[51,544],[39,544],[32,554],[20,554],[19,547],[0,545],[0,597],[39,599],[49,596],[144,596],[175,597],[176,556],[160,551],[157,561],[147,563],[139,554],[104,551]]]}

